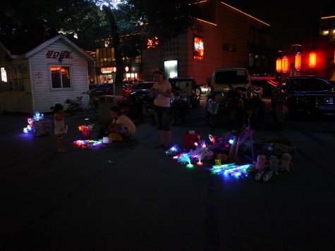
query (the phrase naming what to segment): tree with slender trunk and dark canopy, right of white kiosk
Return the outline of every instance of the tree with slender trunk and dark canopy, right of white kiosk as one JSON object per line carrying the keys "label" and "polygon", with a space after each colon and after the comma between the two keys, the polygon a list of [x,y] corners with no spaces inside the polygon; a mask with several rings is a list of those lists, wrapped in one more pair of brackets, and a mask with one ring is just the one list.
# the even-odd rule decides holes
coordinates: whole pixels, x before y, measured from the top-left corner
{"label": "tree with slender trunk and dark canopy, right of white kiosk", "polygon": [[[117,8],[104,6],[109,19],[111,47],[116,59],[116,94],[121,94],[123,80],[122,57],[140,54],[148,38],[159,37],[160,42],[185,33],[197,16],[194,0],[127,0]],[[120,42],[122,39],[122,42]]]}

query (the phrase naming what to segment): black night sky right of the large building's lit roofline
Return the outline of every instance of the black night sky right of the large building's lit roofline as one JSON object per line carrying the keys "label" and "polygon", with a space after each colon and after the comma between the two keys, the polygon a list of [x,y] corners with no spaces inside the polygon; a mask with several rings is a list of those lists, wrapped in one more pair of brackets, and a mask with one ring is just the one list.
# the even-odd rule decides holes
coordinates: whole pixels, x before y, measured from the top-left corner
{"label": "black night sky right of the large building's lit roofline", "polygon": [[319,35],[319,18],[335,15],[334,0],[226,0],[270,25],[272,44],[281,49],[283,44],[302,42],[303,37]]}

